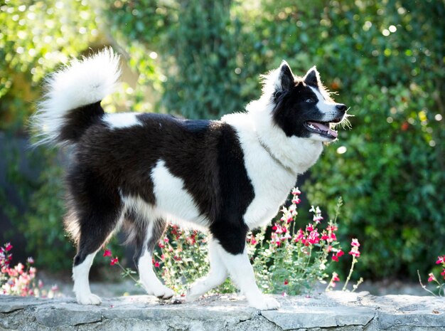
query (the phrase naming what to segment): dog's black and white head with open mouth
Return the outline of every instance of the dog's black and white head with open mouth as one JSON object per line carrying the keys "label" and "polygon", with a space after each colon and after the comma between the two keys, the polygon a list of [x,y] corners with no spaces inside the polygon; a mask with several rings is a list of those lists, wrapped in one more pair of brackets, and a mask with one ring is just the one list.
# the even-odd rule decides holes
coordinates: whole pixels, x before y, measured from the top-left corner
{"label": "dog's black and white head with open mouth", "polygon": [[263,98],[269,98],[272,118],[287,137],[321,142],[337,139],[333,127],[345,119],[347,107],[332,100],[315,66],[300,78],[283,61],[264,78]]}

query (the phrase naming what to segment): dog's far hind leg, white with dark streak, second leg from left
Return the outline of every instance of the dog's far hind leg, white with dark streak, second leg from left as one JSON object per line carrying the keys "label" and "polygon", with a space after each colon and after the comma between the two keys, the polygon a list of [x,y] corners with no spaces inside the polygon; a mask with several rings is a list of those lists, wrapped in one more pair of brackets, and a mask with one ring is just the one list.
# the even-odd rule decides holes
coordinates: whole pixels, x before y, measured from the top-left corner
{"label": "dog's far hind leg, white with dark streak, second leg from left", "polygon": [[145,231],[141,229],[142,231],[136,235],[136,256],[134,258],[139,270],[139,280],[146,292],[160,299],[168,299],[175,294],[173,290],[161,283],[153,270],[151,256],[165,229],[166,221],[163,219],[150,220],[145,226]]}

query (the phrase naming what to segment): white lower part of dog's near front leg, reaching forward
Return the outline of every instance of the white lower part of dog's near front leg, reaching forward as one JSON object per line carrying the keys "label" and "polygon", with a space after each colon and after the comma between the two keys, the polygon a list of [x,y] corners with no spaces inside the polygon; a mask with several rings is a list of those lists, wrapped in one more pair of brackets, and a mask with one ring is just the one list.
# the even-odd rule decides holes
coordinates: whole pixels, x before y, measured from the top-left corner
{"label": "white lower part of dog's near front leg, reaching forward", "polygon": [[217,245],[220,258],[229,271],[235,285],[240,288],[241,293],[245,295],[249,305],[259,310],[278,309],[279,303],[274,298],[264,296],[257,286],[252,265],[247,256],[247,248],[240,254],[227,253],[225,249]]}

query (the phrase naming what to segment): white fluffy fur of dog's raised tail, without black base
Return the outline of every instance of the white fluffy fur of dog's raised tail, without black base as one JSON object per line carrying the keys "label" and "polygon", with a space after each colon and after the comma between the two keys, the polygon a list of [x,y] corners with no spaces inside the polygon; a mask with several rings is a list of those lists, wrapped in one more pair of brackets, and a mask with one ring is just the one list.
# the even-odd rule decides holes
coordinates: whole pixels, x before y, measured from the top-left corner
{"label": "white fluffy fur of dog's raised tail, without black base", "polygon": [[73,59],[45,82],[46,93],[31,123],[39,141],[56,142],[68,111],[102,100],[114,91],[121,71],[112,48],[82,60]]}

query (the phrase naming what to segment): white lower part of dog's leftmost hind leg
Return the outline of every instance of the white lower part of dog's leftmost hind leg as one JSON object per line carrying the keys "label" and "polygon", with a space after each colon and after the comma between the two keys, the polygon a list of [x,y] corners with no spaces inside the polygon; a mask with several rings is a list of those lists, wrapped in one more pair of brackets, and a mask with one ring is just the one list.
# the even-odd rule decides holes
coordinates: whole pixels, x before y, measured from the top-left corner
{"label": "white lower part of dog's leftmost hind leg", "polygon": [[97,295],[91,293],[88,280],[88,274],[96,253],[88,255],[82,263],[73,268],[73,291],[76,295],[77,303],[81,305],[100,305],[102,303],[102,300]]}

